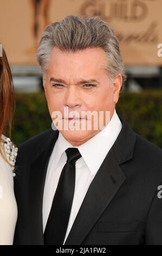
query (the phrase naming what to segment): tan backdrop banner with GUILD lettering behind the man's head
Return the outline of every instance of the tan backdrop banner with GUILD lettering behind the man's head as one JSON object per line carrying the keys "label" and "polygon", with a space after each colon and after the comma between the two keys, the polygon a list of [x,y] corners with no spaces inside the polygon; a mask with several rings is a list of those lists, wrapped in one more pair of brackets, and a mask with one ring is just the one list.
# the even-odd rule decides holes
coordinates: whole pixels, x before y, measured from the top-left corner
{"label": "tan backdrop banner with GUILD lettering behind the man's head", "polygon": [[1,0],[0,42],[11,64],[33,65],[48,23],[93,15],[114,29],[126,65],[161,65],[161,8],[161,0]]}

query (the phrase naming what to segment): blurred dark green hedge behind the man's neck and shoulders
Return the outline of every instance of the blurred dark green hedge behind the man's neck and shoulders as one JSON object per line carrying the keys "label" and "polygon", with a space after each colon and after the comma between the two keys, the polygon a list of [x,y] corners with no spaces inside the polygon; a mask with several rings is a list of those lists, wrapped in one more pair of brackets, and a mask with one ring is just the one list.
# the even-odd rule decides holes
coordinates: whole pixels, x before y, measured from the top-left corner
{"label": "blurred dark green hedge behind the man's neck and shoulders", "polygon": [[[16,102],[12,140],[19,145],[49,129],[51,119],[43,92],[17,94]],[[162,90],[123,92],[116,111],[135,132],[162,148]]]}

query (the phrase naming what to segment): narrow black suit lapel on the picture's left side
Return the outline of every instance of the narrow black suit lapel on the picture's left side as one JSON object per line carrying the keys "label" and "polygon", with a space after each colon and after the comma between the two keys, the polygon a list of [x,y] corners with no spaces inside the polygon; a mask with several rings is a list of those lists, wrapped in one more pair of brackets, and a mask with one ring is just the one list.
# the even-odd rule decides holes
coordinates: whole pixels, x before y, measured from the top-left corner
{"label": "narrow black suit lapel on the picture's left side", "polygon": [[29,218],[31,243],[43,245],[42,206],[43,191],[50,155],[53,151],[59,132],[51,131],[46,143],[40,145],[40,155],[31,163],[29,176]]}

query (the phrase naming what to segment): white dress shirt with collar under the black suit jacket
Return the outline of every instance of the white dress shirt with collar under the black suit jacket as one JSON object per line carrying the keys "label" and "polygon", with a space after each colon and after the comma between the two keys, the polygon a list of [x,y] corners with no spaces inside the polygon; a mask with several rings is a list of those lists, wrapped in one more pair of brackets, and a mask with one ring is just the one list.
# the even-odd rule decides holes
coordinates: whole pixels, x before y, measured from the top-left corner
{"label": "white dress shirt with collar under the black suit jacket", "polygon": [[82,157],[76,161],[74,198],[64,242],[72,228],[75,217],[80,209],[83,199],[85,198],[89,185],[94,179],[95,174],[98,172],[108,151],[116,141],[116,138],[121,131],[121,127],[121,121],[114,110],[112,119],[109,121],[108,125],[94,137],[90,138],[89,141],[83,143],[79,147],[73,147],[73,145],[62,136],[61,132],[59,132],[59,137],[55,143],[53,153],[50,156],[44,186],[43,231],[46,228],[61,171],[64,164],[66,164],[67,156],[65,150],[67,148],[78,148]]}

